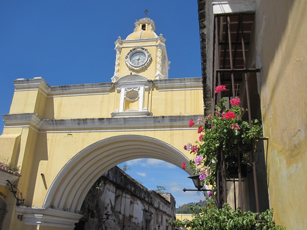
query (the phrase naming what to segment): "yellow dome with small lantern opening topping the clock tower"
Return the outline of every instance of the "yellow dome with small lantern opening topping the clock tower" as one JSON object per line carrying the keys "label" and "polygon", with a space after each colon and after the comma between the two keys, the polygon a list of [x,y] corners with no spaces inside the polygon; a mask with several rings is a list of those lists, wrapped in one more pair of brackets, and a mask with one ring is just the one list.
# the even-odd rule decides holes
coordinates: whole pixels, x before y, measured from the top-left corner
{"label": "yellow dome with small lantern opening topping the clock tower", "polygon": [[157,34],[154,32],[156,30],[155,22],[148,17],[141,18],[135,22],[136,28],[134,32],[129,34],[126,40],[133,39],[148,39],[157,38]]}

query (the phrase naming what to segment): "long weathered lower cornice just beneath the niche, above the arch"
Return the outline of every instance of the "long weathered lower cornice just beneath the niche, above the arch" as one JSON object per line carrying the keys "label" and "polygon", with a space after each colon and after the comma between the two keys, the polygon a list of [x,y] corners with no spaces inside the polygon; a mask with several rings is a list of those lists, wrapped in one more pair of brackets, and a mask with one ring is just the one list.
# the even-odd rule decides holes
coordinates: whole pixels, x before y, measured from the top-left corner
{"label": "long weathered lower cornice just beneath the niche, above the arch", "polygon": [[[34,126],[38,132],[91,132],[91,131],[125,131],[130,130],[156,130],[156,129],[195,129],[188,128],[191,119],[203,117],[198,115],[183,116],[150,116],[150,112],[140,111],[114,112],[114,118],[84,118],[43,120],[34,113],[4,114],[5,128]],[[128,117],[125,117],[127,115]],[[129,116],[130,115],[130,116]],[[143,116],[142,116],[143,115]],[[124,127],[122,124],[125,124]]]}

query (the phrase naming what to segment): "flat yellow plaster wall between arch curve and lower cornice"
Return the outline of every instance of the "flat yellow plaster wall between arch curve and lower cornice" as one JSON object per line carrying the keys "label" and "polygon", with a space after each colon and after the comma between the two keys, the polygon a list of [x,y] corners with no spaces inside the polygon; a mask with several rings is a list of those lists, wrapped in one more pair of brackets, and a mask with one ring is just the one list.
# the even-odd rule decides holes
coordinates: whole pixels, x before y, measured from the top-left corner
{"label": "flat yellow plaster wall between arch curve and lower cornice", "polygon": [[[187,124],[188,127],[188,124]],[[41,206],[48,189],[61,168],[85,147],[111,136],[135,134],[145,135],[170,144],[182,151],[189,159],[191,154],[183,149],[182,143],[194,143],[199,134],[196,130],[130,131],[130,132],[80,132],[80,133],[39,133],[35,148],[37,173],[32,177],[35,186],[32,206]],[[125,159],[123,159],[123,162]],[[34,172],[33,172],[34,173]],[[47,189],[41,173],[45,175]],[[31,204],[30,204],[31,206]]]}

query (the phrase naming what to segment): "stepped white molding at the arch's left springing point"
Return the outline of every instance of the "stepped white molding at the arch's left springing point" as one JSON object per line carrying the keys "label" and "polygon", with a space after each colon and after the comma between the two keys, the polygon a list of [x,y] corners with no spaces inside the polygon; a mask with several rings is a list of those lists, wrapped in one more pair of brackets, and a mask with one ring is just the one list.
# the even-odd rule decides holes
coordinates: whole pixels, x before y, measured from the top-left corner
{"label": "stepped white molding at the arch's left springing point", "polygon": [[28,206],[16,206],[16,215],[23,215],[25,224],[27,225],[65,227],[71,229],[75,228],[75,223],[78,223],[82,217],[78,213]]}

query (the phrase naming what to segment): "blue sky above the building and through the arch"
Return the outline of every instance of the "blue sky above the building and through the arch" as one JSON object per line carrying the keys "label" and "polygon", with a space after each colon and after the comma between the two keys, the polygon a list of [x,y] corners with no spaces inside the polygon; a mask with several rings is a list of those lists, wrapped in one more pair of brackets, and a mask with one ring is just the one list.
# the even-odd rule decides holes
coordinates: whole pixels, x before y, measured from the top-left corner
{"label": "blue sky above the building and through the arch", "polygon": [[[146,8],[147,17],[156,23],[156,33],[166,38],[171,61],[169,78],[201,77],[196,0],[0,1],[1,114],[9,113],[13,80],[17,78],[42,77],[51,86],[110,82],[115,65],[114,42],[118,36],[124,39],[133,32],[135,20],[145,17]],[[0,133],[3,127],[1,119]],[[192,187],[183,170],[153,163],[155,160],[147,159],[129,163],[128,173],[144,181],[148,189],[160,185],[172,192],[172,182],[181,190]],[[166,174],[171,180],[162,181]],[[187,199],[179,200],[179,195],[173,193],[178,204],[184,199],[203,199],[197,195],[193,198],[192,194],[186,192],[182,196]]]}

